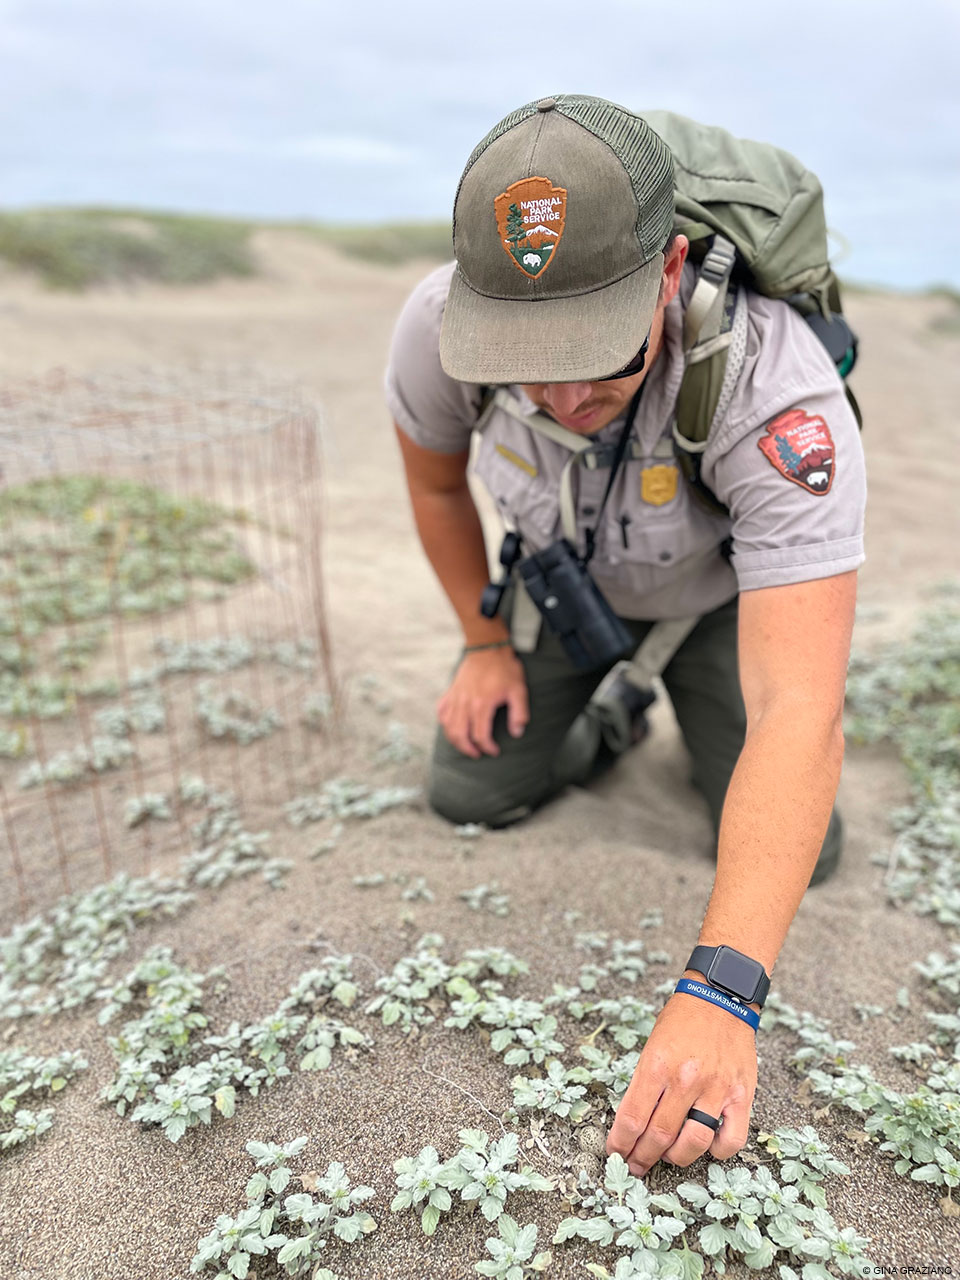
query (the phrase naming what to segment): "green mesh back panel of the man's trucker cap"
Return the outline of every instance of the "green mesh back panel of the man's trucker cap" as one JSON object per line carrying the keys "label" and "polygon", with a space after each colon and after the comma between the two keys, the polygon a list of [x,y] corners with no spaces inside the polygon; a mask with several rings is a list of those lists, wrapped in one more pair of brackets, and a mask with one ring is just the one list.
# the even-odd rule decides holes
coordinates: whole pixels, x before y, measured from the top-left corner
{"label": "green mesh back panel of the man's trucker cap", "polygon": [[[494,124],[486,137],[474,147],[453,201],[454,236],[457,200],[463,178],[492,142],[535,115],[536,104],[541,101],[543,99],[536,99],[504,115],[499,124]],[[557,93],[554,101],[557,111],[582,125],[600,142],[605,142],[626,169],[639,207],[636,238],[648,257],[653,257],[663,248],[673,230],[673,156],[669,147],[644,119],[626,106],[580,93]]]}

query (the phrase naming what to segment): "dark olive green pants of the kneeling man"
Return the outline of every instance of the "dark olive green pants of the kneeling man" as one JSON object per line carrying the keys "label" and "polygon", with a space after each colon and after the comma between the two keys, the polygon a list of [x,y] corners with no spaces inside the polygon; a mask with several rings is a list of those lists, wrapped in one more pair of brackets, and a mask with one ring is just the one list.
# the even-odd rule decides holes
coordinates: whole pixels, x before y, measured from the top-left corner
{"label": "dark olive green pants of the kneeling man", "polygon": [[[637,645],[653,626],[623,621]],[[530,723],[522,737],[507,732],[503,707],[494,718],[499,755],[463,755],[438,730],[429,800],[451,822],[507,826],[564,786],[589,781],[603,763],[599,726],[593,727],[589,713],[582,713],[608,668],[577,671],[545,626],[536,652],[520,654],[520,659],[530,694]],[[704,796],[717,831],[746,733],[737,671],[736,598],[700,618],[662,678],[691,756],[691,782]],[[833,870],[841,844],[842,827],[835,809],[812,883]]]}

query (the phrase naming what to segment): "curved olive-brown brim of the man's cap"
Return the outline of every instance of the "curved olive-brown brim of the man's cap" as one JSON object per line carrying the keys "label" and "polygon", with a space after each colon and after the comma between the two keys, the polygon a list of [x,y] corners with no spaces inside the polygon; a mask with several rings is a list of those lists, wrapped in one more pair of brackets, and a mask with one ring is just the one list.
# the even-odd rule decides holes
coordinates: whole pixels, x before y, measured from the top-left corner
{"label": "curved olive-brown brim of the man's cap", "polygon": [[489,298],[453,273],[440,364],[462,383],[590,383],[623,369],[649,333],[663,275],[636,271],[568,298]]}

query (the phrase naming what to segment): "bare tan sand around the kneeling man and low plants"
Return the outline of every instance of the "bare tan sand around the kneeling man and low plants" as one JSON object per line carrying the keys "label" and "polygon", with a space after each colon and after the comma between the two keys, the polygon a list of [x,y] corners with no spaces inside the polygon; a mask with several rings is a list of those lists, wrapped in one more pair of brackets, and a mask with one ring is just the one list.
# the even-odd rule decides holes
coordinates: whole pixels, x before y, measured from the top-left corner
{"label": "bare tan sand around the kneeling man and low plants", "polygon": [[[289,375],[315,394],[325,434],[334,657],[344,678],[378,672],[392,716],[424,751],[393,768],[389,781],[416,783],[457,627],[412,527],[380,383],[393,319],[429,264],[372,268],[287,232],[259,233],[256,250],[257,278],[197,288],[69,296],[8,273],[0,278],[0,380],[54,366],[84,371],[239,361]],[[854,385],[864,411],[870,486],[859,646],[905,635],[927,603],[924,593],[956,572],[960,338],[934,326],[951,307],[936,297],[856,293],[849,300],[861,339]],[[347,765],[369,773],[366,754],[381,731],[378,713],[355,701]],[[808,893],[776,973],[780,995],[801,1009],[828,1010],[835,1028],[858,1043],[859,1060],[884,1071],[890,1028],[861,1024],[852,1006],[892,1006],[913,961],[945,946],[936,925],[887,905],[881,869],[869,861],[888,842],[888,808],[905,795],[892,755],[849,751],[841,787],[845,859],[831,882]],[[256,817],[279,827],[276,815]],[[582,913],[576,928],[631,938],[637,915],[657,905],[664,924],[655,943],[678,960],[695,941],[712,884],[707,814],[687,785],[684,750],[662,707],[649,742],[595,790],[571,791],[522,828],[483,837],[471,858],[440,819],[422,810],[349,828],[337,858],[323,864],[303,859],[306,837],[287,832],[279,838],[300,859],[291,887],[266,904],[269,910],[265,891],[259,896],[255,884],[239,883],[205,909],[202,928],[198,914],[188,913],[150,931],[148,941],[174,946],[196,968],[230,966],[229,998],[237,1007],[225,1005],[228,1016],[271,1007],[310,964],[303,943],[317,933],[332,947],[372,957],[383,970],[428,929],[447,937],[452,956],[470,946],[506,946],[530,963],[534,977],[525,991],[545,993],[554,980],[573,980],[584,959],[571,950],[575,929],[564,923],[566,911]],[[351,886],[353,874],[381,865],[425,876],[435,901],[401,904],[396,893],[365,895]],[[475,914],[458,901],[462,888],[480,881],[498,881],[509,893],[508,916]],[[402,920],[403,911],[412,923]],[[242,1204],[243,1142],[266,1134],[285,1140],[301,1132],[315,1137],[315,1166],[343,1158],[355,1180],[378,1190],[380,1230],[348,1251],[344,1262],[329,1263],[338,1274],[378,1280],[474,1274],[472,1261],[484,1256],[490,1234],[485,1222],[442,1228],[428,1243],[412,1219],[387,1212],[394,1158],[425,1143],[448,1151],[457,1129],[489,1120],[436,1076],[495,1112],[509,1101],[509,1073],[479,1047],[465,1047],[462,1037],[431,1029],[404,1042],[374,1028],[378,1052],[370,1066],[337,1065],[287,1082],[244,1102],[229,1124],[191,1130],[172,1147],[97,1105],[96,1089],[109,1076],[104,1032],[92,1015],[61,1021],[28,1027],[18,1043],[82,1047],[91,1070],[65,1100],[70,1123],[61,1106],[55,1129],[0,1169],[4,1280],[186,1275],[216,1213]],[[893,1034],[893,1042],[910,1038]],[[772,1044],[763,1052],[754,1123],[810,1123],[795,1094],[796,1078]],[[854,1170],[849,1183],[831,1190],[841,1225],[872,1235],[879,1263],[956,1261],[957,1220],[943,1219],[929,1188],[896,1178],[888,1162],[845,1137],[846,1128],[842,1120],[823,1121],[831,1146]],[[584,1274],[562,1248],[554,1257],[550,1275]]]}

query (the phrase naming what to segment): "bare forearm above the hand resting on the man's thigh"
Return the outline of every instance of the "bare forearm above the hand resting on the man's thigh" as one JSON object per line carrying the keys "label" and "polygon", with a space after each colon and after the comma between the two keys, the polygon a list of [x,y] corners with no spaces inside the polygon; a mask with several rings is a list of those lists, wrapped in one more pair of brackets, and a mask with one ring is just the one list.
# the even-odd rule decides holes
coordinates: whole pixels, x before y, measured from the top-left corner
{"label": "bare forearm above the hand resting on the man's thigh", "polygon": [[484,535],[466,484],[445,493],[412,492],[420,540],[463,627],[466,644],[506,640],[507,626],[480,613],[489,571]]}

